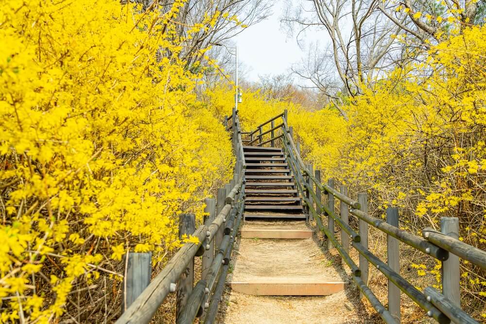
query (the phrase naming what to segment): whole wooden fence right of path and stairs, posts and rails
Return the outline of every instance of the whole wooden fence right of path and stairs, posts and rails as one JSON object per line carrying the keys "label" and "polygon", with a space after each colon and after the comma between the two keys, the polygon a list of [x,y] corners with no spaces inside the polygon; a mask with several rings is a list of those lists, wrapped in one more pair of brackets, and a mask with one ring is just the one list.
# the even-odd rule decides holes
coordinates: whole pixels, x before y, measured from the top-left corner
{"label": "whole wooden fence right of path and stairs, posts and rails", "polygon": [[[486,252],[454,238],[445,230],[437,232],[432,228],[424,228],[422,237],[414,235],[399,228],[397,208],[389,207],[387,220],[384,221],[367,212],[366,194],[359,194],[359,201],[356,201],[347,195],[346,187],[342,186],[341,191],[336,190],[332,179],[327,184],[321,183],[320,171],[315,171],[314,175],[312,166],[304,164],[300,156],[300,146],[294,141],[293,130],[288,126],[287,117],[287,111],[284,111],[265,121],[254,131],[244,133],[249,138],[243,139],[243,142],[257,146],[272,143],[274,146],[277,139],[281,140],[289,169],[295,178],[295,186],[308,212],[308,220],[314,219],[317,229],[328,239],[329,248],[336,248],[344,263],[351,270],[351,279],[382,320],[385,323],[400,323],[401,291],[421,307],[427,316],[434,318],[438,323],[451,323],[451,321],[453,323],[478,323],[460,307],[458,257],[486,269]],[[265,128],[267,129],[264,130]],[[270,138],[265,139],[264,136],[270,136]],[[321,201],[321,195],[327,197],[327,204]],[[339,213],[335,211],[335,199],[341,202]],[[349,226],[348,215],[358,218],[359,231]],[[324,225],[323,220],[327,220],[327,226]],[[441,220],[443,229],[449,226],[453,233],[454,226],[451,227],[450,221],[449,218]],[[336,225],[341,231],[340,240],[335,236]],[[387,263],[369,251],[368,225],[386,234]],[[400,275],[399,242],[443,262],[442,293],[431,287],[422,292]],[[359,265],[349,256],[349,245],[359,253]],[[369,263],[388,279],[388,308],[382,305],[367,286]]]}

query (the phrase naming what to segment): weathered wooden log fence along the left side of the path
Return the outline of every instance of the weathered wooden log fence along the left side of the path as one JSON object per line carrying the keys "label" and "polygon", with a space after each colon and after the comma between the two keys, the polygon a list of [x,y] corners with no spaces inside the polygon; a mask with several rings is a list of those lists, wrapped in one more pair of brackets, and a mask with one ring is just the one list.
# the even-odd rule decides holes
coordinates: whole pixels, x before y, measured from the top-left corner
{"label": "weathered wooden log fence along the left side of the path", "polygon": [[[233,179],[218,189],[217,199],[207,198],[209,216],[195,229],[195,217],[182,214],[179,237],[192,235],[198,243],[186,243],[152,281],[151,254],[130,253],[126,261],[123,305],[117,324],[149,323],[170,293],[177,294],[176,323],[214,322],[226,284],[233,244],[243,217],[244,155],[239,118],[236,111],[229,120],[237,162]],[[225,119],[228,127],[228,118]],[[201,280],[194,285],[194,257],[202,258]]]}

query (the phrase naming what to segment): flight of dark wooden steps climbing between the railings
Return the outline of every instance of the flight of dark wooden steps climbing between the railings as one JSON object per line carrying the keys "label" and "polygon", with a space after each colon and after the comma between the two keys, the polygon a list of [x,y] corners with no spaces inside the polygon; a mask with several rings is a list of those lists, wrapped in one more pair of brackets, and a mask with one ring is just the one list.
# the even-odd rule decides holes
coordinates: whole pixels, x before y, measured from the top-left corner
{"label": "flight of dark wooden steps climbing between the railings", "polygon": [[244,219],[306,219],[281,148],[243,146],[246,163]]}

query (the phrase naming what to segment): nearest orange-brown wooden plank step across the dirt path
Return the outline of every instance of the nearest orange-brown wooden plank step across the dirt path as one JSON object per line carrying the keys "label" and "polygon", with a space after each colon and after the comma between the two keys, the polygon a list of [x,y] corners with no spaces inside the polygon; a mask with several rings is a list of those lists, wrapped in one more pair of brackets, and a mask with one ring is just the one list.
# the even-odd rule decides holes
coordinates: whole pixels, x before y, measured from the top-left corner
{"label": "nearest orange-brown wooden plank step across the dirt path", "polygon": [[346,289],[346,283],[328,282],[231,282],[232,290],[259,296],[327,296]]}

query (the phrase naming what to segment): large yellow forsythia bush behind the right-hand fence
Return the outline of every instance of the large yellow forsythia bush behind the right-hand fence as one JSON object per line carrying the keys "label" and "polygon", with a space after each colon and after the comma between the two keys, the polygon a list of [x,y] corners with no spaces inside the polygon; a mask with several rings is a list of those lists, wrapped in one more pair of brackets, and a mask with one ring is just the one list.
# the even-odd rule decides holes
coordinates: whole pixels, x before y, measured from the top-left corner
{"label": "large yellow forsythia bush behind the right-hand fence", "polygon": [[[458,217],[460,239],[486,250],[486,27],[451,31],[422,62],[375,80],[348,105],[343,178],[370,193],[378,215],[398,206],[401,226],[421,235]],[[440,263],[413,260],[440,286]],[[486,318],[486,273],[461,264],[465,309]],[[437,280],[436,280],[437,279]]]}

